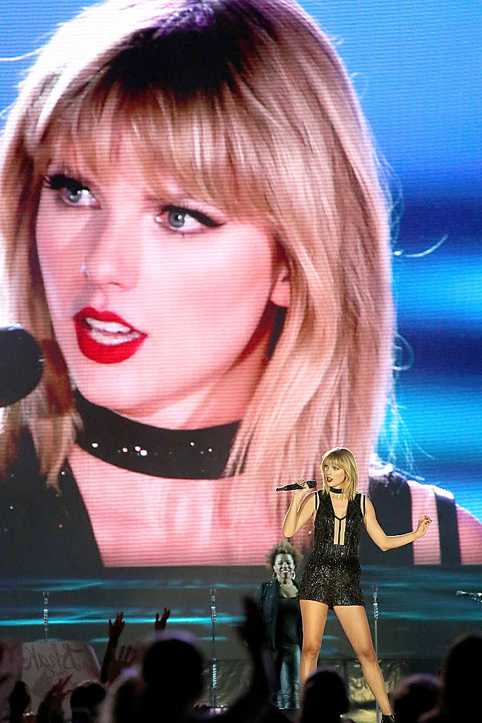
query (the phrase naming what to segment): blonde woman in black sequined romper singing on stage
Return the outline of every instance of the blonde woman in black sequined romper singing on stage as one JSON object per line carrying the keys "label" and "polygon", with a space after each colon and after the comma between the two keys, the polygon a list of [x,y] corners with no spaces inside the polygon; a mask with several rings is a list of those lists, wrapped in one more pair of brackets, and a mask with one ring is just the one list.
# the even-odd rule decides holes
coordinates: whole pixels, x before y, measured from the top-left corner
{"label": "blonde woman in black sequined romper singing on stage", "polygon": [[[291,537],[311,516],[314,517],[314,547],[299,588],[303,618],[303,650],[300,677],[317,667],[328,609],[333,609],[361,663],[363,676],[382,711],[382,723],[395,721],[376,660],[360,587],[358,542],[361,523],[382,550],[402,547],[422,537],[431,523],[428,515],[417,529],[388,536],[376,521],[374,506],[357,492],[358,471],[350,450],[335,447],[324,453],[321,463],[323,489],[306,495],[306,482],[293,492],[293,500],[283,522],[283,534]],[[306,495],[306,497],[304,497]],[[301,504],[300,504],[301,502]]]}

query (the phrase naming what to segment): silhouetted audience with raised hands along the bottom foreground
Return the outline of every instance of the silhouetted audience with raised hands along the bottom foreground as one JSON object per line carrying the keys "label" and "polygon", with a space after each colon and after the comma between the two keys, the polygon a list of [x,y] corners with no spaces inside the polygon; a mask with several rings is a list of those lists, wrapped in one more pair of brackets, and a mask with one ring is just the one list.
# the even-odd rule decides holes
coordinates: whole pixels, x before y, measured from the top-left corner
{"label": "silhouetted audience with raised hands along the bottom foreground", "polygon": [[[73,690],[69,676],[59,680],[40,703],[36,716],[21,680],[9,696],[9,723],[65,723],[64,700],[69,696],[72,723],[198,723],[212,717],[220,723],[283,723],[294,711],[274,703],[276,676],[267,646],[259,607],[245,601],[239,634],[249,651],[251,676],[246,691],[219,714],[199,706],[205,685],[205,659],[196,642],[185,633],[165,630],[170,611],[155,616],[155,641],[136,659],[132,649],[116,653],[124,629],[122,613],[109,620],[108,644],[99,680],[86,681]],[[1,655],[1,648],[0,648]],[[392,693],[397,723],[462,723],[480,720],[482,636],[452,643],[439,676],[413,675],[400,681]],[[4,681],[0,681],[2,683]],[[298,723],[350,723],[348,690],[334,670],[320,667],[304,684]],[[289,715],[291,712],[291,715]],[[288,717],[289,715],[289,717]],[[2,722],[4,723],[4,722]],[[6,722],[7,723],[7,722]],[[352,722],[353,723],[353,722]]]}

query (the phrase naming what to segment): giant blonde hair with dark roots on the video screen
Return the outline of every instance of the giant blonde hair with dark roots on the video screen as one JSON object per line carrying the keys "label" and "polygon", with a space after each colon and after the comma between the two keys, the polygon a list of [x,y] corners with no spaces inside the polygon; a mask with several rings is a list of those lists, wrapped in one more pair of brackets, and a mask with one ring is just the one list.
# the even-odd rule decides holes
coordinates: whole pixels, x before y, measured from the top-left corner
{"label": "giant blonde hair with dark roots on the video screen", "polygon": [[38,389],[4,412],[1,466],[22,426],[50,484],[72,447],[79,420],[48,315],[35,214],[57,143],[103,168],[120,136],[158,192],[153,157],[186,193],[262,215],[288,263],[291,303],[226,473],[242,466],[270,484],[312,476],[321,451],[343,439],[367,479],[392,367],[389,209],[342,62],[283,0],[110,0],[40,52],[4,131],[1,281],[10,318],[51,354]]}

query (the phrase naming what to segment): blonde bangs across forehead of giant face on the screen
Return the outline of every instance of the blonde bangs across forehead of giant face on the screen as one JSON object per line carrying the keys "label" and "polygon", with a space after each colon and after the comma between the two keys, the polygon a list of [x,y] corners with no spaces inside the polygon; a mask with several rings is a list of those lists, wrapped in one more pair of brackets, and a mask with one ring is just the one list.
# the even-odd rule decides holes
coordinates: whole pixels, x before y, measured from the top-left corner
{"label": "blonde bangs across forehead of giant face on the screen", "polygon": [[101,81],[53,111],[35,151],[36,175],[46,173],[53,156],[74,155],[105,181],[127,151],[155,197],[168,198],[174,181],[231,216],[261,214],[272,224],[270,179],[259,153],[264,133],[227,88],[216,98],[199,93],[180,102],[155,87],[132,93],[119,81],[107,88]]}

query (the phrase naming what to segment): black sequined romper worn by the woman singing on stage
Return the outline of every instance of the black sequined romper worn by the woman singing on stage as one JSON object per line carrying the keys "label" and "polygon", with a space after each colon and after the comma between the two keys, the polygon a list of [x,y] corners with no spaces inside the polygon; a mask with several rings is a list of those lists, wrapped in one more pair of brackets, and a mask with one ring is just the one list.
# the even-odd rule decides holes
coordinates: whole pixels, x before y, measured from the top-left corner
{"label": "black sequined romper worn by the woman singing on stage", "polygon": [[329,493],[315,492],[314,543],[301,578],[300,600],[334,605],[363,605],[358,543],[366,497],[357,492],[348,501],[346,515],[335,516]]}

